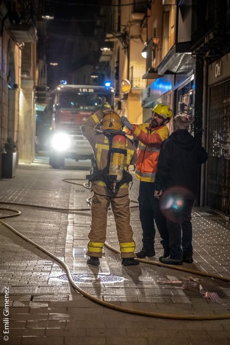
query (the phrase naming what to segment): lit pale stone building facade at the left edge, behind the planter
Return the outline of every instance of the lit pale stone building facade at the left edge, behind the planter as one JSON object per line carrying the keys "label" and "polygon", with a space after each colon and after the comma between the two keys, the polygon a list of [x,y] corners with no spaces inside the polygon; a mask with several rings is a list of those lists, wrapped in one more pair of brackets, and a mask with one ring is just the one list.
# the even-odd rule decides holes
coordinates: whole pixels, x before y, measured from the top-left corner
{"label": "lit pale stone building facade at the left edge, behind the planter", "polygon": [[10,137],[17,145],[17,159],[25,163],[34,155],[37,5],[31,0],[0,4],[0,152]]}

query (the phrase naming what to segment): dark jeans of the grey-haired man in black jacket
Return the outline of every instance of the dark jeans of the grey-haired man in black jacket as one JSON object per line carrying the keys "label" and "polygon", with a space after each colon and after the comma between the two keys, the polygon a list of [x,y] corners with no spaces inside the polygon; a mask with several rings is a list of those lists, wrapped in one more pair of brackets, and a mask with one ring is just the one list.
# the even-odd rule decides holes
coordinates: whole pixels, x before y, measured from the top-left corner
{"label": "dark jeans of the grey-haired man in black jacket", "polygon": [[191,223],[193,204],[193,199],[186,199],[182,210],[178,211],[172,207],[167,211],[167,229],[172,259],[180,260],[182,254],[184,257],[193,256]]}

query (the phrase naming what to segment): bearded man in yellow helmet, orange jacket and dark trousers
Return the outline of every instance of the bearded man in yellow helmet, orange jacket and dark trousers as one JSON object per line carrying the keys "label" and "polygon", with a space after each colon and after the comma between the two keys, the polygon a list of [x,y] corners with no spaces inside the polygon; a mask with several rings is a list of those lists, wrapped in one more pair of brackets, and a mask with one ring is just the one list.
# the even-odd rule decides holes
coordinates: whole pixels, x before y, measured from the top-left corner
{"label": "bearded man in yellow helmet, orange jacket and dark trousers", "polygon": [[162,142],[168,138],[169,131],[166,124],[172,117],[172,110],[166,104],[157,104],[152,109],[151,123],[132,125],[122,116],[123,125],[139,140],[137,149],[137,163],[135,176],[139,184],[139,216],[142,227],[142,249],[136,253],[138,258],[155,256],[155,226],[161,236],[164,256],[169,255],[168,233],[166,220],[159,207],[159,200],[154,197],[155,175]]}

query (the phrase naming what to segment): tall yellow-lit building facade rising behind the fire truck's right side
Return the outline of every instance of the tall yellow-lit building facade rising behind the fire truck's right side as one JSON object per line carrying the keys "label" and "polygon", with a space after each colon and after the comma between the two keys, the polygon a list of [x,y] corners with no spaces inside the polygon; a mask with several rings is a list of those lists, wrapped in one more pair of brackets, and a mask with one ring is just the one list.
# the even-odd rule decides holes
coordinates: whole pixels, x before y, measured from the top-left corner
{"label": "tall yellow-lit building facade rising behind the fire truck's right side", "polygon": [[[102,52],[100,62],[108,65],[108,79],[115,89],[115,109],[127,116],[133,123],[143,121],[141,93],[146,86],[142,79],[145,59],[141,52],[146,41],[147,6],[143,1],[133,1],[126,6],[125,0],[113,0],[107,13],[105,43],[112,43],[112,49]],[[131,91],[125,94],[121,89],[122,80],[131,83]]]}

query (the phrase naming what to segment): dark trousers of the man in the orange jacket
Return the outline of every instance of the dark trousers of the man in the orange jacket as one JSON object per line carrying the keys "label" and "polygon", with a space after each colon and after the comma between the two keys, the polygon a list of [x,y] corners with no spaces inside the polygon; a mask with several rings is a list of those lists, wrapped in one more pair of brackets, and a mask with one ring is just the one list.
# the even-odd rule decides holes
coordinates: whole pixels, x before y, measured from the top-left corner
{"label": "dark trousers of the man in the orange jacket", "polygon": [[140,181],[139,185],[139,213],[143,230],[143,248],[146,251],[154,251],[156,230],[154,220],[161,236],[161,243],[164,248],[164,255],[169,255],[168,232],[166,219],[159,207],[159,200],[154,197],[155,183]]}

